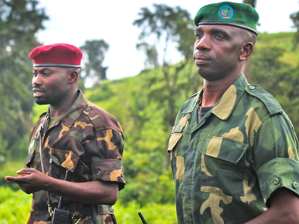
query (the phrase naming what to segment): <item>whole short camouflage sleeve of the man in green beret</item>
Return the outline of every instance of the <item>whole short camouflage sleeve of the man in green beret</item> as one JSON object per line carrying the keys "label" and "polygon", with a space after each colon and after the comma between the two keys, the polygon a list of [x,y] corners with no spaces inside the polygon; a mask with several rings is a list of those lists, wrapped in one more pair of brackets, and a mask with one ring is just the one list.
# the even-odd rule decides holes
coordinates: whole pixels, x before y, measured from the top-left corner
{"label": "whole short camouflage sleeve of the man in green beret", "polygon": [[298,139],[285,114],[270,116],[256,133],[254,166],[263,198],[280,187],[299,195]]}

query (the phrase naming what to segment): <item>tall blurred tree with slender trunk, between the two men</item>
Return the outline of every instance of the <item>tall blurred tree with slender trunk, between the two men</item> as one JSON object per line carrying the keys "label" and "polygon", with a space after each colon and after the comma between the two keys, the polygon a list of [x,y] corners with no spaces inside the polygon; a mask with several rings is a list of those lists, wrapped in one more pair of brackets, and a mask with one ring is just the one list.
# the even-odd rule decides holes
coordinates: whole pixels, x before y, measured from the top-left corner
{"label": "tall blurred tree with slender trunk, between the two men", "polygon": [[[153,12],[147,7],[141,8],[141,12],[138,13],[141,18],[136,19],[133,24],[142,29],[139,35],[142,43],[147,43],[148,39],[154,37],[154,44],[147,43],[147,46],[151,46],[148,47],[149,49],[152,49],[156,44],[162,46],[161,70],[164,76],[164,80],[162,81],[164,85],[153,89],[152,94],[156,96],[155,99],[161,104],[166,102],[167,105],[161,106],[165,108],[165,121],[170,129],[174,124],[177,112],[175,95],[178,91],[178,75],[189,60],[193,58],[194,25],[190,19],[190,13],[179,6],[172,8],[165,4],[153,4],[153,7]],[[170,70],[167,59],[167,51],[170,44],[176,44],[176,49],[183,57],[183,60],[176,65],[174,71]]]}

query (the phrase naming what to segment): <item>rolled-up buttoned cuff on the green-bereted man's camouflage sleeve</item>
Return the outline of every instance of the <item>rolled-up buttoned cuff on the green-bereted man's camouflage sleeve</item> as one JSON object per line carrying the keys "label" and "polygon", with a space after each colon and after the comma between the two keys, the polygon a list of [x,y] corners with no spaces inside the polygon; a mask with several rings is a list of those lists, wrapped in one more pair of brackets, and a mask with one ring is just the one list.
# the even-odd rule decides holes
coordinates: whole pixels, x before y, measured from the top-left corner
{"label": "rolled-up buttoned cuff on the green-bereted man's camouflage sleeve", "polygon": [[299,162],[290,158],[274,158],[263,165],[257,176],[263,198],[281,187],[286,187],[299,195]]}

